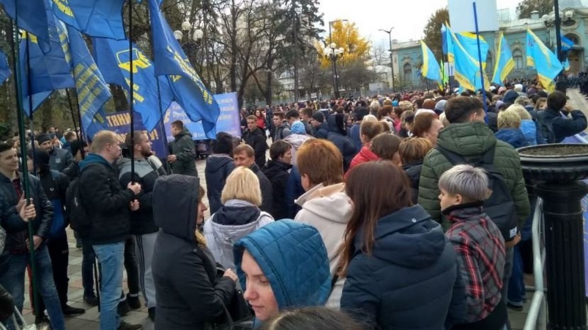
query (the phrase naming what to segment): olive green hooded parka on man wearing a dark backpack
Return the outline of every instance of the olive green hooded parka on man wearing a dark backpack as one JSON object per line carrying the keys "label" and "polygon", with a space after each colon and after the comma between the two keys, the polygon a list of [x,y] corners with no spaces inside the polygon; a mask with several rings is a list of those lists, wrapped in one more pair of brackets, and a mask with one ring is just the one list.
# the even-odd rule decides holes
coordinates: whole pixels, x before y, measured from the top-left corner
{"label": "olive green hooded parka on man wearing a dark backpack", "polygon": [[[439,133],[437,145],[462,155],[465,159],[479,157],[486,150],[496,147],[494,166],[502,173],[506,185],[510,189],[519,230],[529,216],[529,195],[524,186],[523,171],[517,151],[509,144],[496,140],[492,130],[484,123],[456,123],[450,124]],[[436,221],[442,222],[439,204],[439,178],[453,165],[439,151],[429,151],[423,161],[420,172],[419,204]]]}

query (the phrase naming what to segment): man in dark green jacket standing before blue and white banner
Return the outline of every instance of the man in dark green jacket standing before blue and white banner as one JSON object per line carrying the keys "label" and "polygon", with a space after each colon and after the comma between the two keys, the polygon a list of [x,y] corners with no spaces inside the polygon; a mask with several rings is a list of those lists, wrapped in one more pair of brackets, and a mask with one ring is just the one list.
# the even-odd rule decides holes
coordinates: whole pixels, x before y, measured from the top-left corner
{"label": "man in dark green jacket standing before blue and white banner", "polygon": [[171,154],[168,156],[168,161],[173,173],[197,177],[196,147],[192,140],[192,133],[183,126],[182,120],[176,120],[172,123],[172,134],[174,140],[169,143]]}

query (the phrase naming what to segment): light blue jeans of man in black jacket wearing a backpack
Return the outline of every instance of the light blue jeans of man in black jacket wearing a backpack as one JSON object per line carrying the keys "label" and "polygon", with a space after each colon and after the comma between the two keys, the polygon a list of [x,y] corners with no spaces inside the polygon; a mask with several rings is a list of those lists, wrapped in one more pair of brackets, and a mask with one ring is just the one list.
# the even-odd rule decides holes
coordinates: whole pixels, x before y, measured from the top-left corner
{"label": "light blue jeans of man in black jacket wearing a backpack", "polygon": [[116,330],[121,322],[118,302],[122,291],[122,263],[125,242],[92,245],[102,266],[100,330]]}

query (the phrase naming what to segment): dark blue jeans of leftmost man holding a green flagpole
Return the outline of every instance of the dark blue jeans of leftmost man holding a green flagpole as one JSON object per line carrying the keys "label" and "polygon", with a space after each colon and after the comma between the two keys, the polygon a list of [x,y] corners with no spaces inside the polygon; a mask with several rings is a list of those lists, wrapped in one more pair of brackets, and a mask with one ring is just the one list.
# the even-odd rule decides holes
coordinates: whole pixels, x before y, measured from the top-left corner
{"label": "dark blue jeans of leftmost man holding a green flagpole", "polygon": [[[11,254],[8,258],[8,271],[0,277],[0,284],[10,292],[16,307],[21,312],[22,304],[25,301],[25,270],[30,258],[31,254],[29,253]],[[64,314],[61,311],[61,302],[59,302],[53,281],[51,258],[45,244],[35,250],[35,267],[38,291],[45,303],[51,327],[55,330],[65,330]],[[14,329],[11,322],[9,323],[8,328]]]}

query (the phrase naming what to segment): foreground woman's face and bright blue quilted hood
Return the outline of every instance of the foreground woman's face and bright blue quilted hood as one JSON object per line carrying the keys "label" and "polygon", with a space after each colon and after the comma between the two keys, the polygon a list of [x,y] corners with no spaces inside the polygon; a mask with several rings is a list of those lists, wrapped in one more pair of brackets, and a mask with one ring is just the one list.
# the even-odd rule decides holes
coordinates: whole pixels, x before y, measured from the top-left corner
{"label": "foreground woman's face and bright blue quilted hood", "polygon": [[241,238],[234,249],[243,297],[255,312],[256,326],[283,309],[327,301],[329,258],[315,227],[276,221]]}

